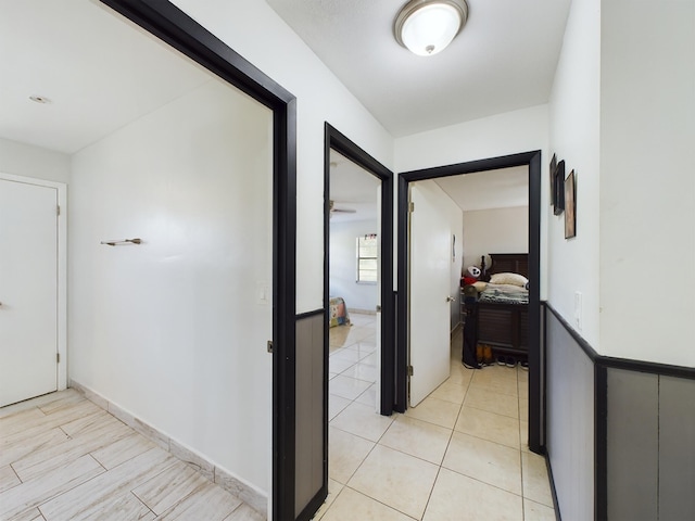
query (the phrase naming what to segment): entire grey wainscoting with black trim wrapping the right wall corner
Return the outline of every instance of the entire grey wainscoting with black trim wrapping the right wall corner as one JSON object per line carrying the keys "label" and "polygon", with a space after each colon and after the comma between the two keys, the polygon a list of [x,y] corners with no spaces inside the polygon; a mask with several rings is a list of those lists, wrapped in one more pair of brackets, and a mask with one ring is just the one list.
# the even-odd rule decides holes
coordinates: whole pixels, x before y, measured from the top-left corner
{"label": "entire grey wainscoting with black trim wrapping the right wall corner", "polygon": [[569,520],[695,520],[695,368],[598,355],[545,308],[546,450]]}

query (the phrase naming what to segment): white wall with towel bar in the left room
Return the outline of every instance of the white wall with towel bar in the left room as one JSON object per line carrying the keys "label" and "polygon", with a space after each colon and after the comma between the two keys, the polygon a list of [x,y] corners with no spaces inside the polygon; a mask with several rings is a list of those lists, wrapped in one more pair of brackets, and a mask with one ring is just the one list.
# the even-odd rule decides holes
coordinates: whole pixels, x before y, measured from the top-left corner
{"label": "white wall with towel bar in the left room", "polygon": [[268,493],[271,113],[212,80],[75,154],[71,187],[71,378]]}

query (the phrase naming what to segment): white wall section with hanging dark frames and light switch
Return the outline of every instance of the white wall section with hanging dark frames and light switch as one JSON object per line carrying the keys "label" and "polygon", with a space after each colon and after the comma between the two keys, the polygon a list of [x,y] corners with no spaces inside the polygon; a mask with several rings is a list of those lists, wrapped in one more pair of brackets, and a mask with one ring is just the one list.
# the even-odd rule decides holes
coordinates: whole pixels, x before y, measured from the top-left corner
{"label": "white wall section with hanging dark frames and light switch", "polygon": [[[573,169],[577,176],[577,237],[565,239],[565,214],[547,214],[547,298],[601,352],[599,16],[601,0],[572,2],[551,96],[551,152],[565,160],[566,175]],[[578,291],[583,303],[581,325],[574,320]]]}

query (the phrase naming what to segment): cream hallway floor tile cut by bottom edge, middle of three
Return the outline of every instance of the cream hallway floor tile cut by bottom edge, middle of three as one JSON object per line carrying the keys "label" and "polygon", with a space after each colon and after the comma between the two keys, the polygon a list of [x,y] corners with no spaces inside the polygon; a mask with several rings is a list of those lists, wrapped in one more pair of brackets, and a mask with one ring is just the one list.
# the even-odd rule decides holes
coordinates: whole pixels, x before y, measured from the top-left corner
{"label": "cream hallway floor tile cut by bottom edge, middle of three", "polygon": [[424,521],[523,521],[521,497],[441,469]]}

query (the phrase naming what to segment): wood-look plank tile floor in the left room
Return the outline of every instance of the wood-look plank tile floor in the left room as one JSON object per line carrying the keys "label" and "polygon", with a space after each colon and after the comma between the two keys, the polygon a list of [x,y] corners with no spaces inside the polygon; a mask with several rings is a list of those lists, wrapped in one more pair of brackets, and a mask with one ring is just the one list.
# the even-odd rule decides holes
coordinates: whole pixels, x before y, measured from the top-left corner
{"label": "wood-look plank tile floor in the left room", "polygon": [[67,390],[0,408],[0,520],[264,519]]}

